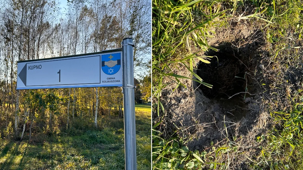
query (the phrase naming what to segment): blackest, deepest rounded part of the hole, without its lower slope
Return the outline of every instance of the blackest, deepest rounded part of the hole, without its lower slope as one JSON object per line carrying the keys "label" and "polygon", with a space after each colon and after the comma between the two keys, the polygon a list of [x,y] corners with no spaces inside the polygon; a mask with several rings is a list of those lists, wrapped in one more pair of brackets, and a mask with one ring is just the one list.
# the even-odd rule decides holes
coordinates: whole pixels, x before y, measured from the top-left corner
{"label": "blackest, deepest rounded part of the hole, without its lower slope", "polygon": [[213,85],[212,88],[200,86],[208,98],[228,98],[236,93],[245,91],[245,66],[238,56],[219,52],[211,59],[210,64],[200,63],[198,75],[204,82]]}

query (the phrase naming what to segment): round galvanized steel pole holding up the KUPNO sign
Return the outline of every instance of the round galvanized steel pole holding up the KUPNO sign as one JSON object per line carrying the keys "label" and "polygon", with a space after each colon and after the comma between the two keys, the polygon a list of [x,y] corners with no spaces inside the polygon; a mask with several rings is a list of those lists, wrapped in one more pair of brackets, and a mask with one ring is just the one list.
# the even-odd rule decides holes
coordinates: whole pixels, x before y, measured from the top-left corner
{"label": "round galvanized steel pole holding up the KUPNO sign", "polygon": [[133,39],[122,40],[125,169],[137,169]]}

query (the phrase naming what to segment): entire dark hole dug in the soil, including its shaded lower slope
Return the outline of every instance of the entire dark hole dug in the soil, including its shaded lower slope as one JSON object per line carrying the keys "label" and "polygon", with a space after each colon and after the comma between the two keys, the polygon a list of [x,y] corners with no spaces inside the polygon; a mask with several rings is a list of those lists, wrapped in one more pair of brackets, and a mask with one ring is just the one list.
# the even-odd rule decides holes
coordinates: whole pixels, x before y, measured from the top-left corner
{"label": "entire dark hole dug in the soil, including its shaded lower slope", "polygon": [[245,75],[246,67],[243,64],[247,62],[241,59],[240,54],[231,49],[221,49],[219,52],[212,52],[208,55],[217,56],[217,58],[213,57],[210,64],[201,62],[197,74],[204,82],[213,87],[200,85],[199,88],[205,97],[220,105],[221,114],[239,121],[248,112],[244,95],[245,97],[249,97],[249,95],[243,93],[246,88],[249,88],[248,76]]}

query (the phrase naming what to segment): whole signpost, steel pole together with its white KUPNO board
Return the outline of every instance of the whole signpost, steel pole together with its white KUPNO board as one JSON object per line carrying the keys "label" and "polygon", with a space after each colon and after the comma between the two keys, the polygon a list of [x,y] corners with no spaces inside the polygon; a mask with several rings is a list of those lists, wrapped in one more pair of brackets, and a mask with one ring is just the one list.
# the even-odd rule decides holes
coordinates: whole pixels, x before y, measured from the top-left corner
{"label": "whole signpost, steel pole together with its white KUPNO board", "polygon": [[74,56],[18,61],[17,90],[122,87],[125,169],[137,169],[133,40],[122,48]]}

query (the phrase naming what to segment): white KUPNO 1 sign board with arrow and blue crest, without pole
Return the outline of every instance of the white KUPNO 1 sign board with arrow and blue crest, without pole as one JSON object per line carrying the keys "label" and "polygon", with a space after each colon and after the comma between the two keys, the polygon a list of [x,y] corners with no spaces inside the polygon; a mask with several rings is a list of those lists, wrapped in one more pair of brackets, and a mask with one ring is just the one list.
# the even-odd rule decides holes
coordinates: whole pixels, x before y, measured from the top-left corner
{"label": "white KUPNO 1 sign board with arrow and blue crest, without pole", "polygon": [[122,87],[122,49],[18,62],[17,89]]}

